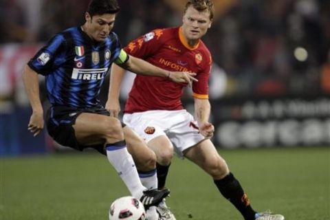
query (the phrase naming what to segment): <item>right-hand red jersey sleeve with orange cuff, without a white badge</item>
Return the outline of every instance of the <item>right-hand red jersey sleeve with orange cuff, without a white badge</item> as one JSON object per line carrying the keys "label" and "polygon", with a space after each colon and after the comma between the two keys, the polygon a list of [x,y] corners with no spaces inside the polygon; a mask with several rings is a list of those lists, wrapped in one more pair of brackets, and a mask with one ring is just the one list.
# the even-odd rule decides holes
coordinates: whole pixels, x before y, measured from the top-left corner
{"label": "right-hand red jersey sleeve with orange cuff, without a white badge", "polygon": [[207,56],[206,61],[203,63],[201,72],[197,74],[198,82],[192,83],[192,96],[194,98],[208,99],[208,78],[211,73],[212,58],[210,54]]}

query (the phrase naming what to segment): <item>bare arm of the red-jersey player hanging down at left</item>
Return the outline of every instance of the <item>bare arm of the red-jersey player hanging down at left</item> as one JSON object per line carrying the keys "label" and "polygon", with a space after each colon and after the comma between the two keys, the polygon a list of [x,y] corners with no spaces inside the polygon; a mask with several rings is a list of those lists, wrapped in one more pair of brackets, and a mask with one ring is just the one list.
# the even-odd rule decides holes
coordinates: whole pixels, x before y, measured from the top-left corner
{"label": "bare arm of the red-jersey player hanging down at left", "polygon": [[110,115],[115,118],[118,118],[118,114],[120,113],[119,95],[124,74],[125,70],[113,63],[110,74],[108,100],[105,104],[105,109],[107,109]]}

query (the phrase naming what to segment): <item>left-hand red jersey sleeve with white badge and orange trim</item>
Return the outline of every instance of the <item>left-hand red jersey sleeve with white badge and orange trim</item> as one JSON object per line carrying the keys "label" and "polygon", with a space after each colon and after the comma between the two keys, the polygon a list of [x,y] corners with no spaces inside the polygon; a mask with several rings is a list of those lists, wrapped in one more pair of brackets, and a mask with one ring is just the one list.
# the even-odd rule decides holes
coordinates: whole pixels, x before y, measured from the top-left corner
{"label": "left-hand red jersey sleeve with white badge and orange trim", "polygon": [[162,36],[164,32],[161,29],[153,30],[143,36],[131,41],[124,47],[125,52],[137,58],[145,59],[157,52],[162,45]]}

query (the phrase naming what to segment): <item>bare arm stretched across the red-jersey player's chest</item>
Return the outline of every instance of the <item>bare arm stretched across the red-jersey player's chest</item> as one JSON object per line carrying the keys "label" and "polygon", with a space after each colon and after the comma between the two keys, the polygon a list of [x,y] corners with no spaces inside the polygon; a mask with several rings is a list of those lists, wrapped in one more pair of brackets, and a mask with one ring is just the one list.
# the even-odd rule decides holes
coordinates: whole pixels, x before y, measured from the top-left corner
{"label": "bare arm stretched across the red-jersey player's chest", "polygon": [[124,69],[128,69],[129,71],[134,72],[135,74],[165,77],[169,78],[175,83],[188,83],[191,85],[192,81],[197,81],[197,79],[194,78],[194,76],[196,76],[195,73],[170,72],[134,56],[130,56],[129,60],[126,63],[120,64],[120,66]]}

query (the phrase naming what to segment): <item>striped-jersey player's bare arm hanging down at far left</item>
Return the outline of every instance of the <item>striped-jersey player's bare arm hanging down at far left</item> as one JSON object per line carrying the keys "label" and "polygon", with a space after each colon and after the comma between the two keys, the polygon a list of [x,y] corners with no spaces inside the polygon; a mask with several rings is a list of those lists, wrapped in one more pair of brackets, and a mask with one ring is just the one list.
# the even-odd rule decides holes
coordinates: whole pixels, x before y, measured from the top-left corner
{"label": "striped-jersey player's bare arm hanging down at far left", "polygon": [[25,86],[26,94],[28,95],[32,107],[32,115],[28,124],[28,130],[32,132],[34,136],[36,136],[39,135],[44,125],[43,106],[41,104],[39,96],[38,74],[28,65],[25,65],[23,69],[22,79]]}

